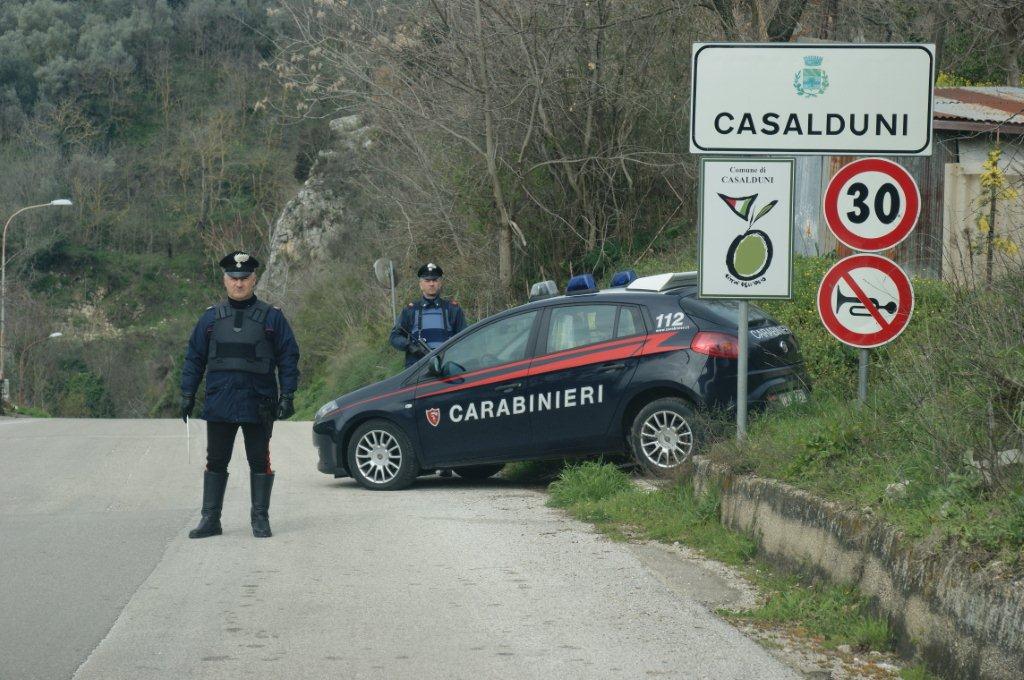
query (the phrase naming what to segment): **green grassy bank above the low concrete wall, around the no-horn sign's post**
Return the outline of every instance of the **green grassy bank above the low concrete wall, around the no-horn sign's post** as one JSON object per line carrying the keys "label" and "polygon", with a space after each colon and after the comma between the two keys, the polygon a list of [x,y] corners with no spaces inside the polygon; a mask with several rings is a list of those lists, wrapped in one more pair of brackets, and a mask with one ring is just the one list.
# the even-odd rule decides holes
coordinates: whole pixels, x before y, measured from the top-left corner
{"label": "green grassy bank above the low concrete wall, around the no-horn sign's post", "polygon": [[859,405],[857,352],[816,311],[831,263],[797,258],[793,300],[759,303],[799,338],[811,400],[752,419],[742,445],[706,453],[1024,573],[1024,269],[985,288],[915,280],[913,318],[870,351]]}

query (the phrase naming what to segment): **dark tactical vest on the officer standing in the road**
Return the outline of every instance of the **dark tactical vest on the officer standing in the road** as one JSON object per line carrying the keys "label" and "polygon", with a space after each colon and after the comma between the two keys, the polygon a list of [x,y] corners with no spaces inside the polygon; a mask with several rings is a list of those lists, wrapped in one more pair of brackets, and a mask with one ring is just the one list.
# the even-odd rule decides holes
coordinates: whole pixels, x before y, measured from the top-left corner
{"label": "dark tactical vest on the officer standing in the road", "polygon": [[264,328],[270,305],[257,300],[248,309],[234,309],[229,303],[221,302],[215,309],[207,370],[270,373],[273,346]]}

